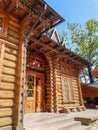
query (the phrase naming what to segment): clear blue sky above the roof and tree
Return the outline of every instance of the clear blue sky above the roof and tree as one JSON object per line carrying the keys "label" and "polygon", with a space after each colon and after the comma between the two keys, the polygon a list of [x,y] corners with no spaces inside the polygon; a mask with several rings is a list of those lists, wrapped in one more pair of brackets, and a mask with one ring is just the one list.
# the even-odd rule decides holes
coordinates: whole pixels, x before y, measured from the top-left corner
{"label": "clear blue sky above the roof and tree", "polygon": [[98,20],[98,0],[45,0],[56,10],[65,22],[57,27],[59,32],[66,30],[66,23],[80,23],[82,26],[88,19]]}

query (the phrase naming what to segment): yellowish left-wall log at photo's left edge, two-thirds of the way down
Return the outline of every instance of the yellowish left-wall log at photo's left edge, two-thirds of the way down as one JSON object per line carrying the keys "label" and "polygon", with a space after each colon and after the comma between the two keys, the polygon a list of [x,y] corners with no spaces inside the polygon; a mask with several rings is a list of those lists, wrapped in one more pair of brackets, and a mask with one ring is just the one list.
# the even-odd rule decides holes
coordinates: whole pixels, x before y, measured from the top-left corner
{"label": "yellowish left-wall log at photo's left edge, two-thirds of the way down", "polygon": [[15,84],[14,83],[2,83],[0,84],[0,90],[9,90],[12,91],[15,89]]}

